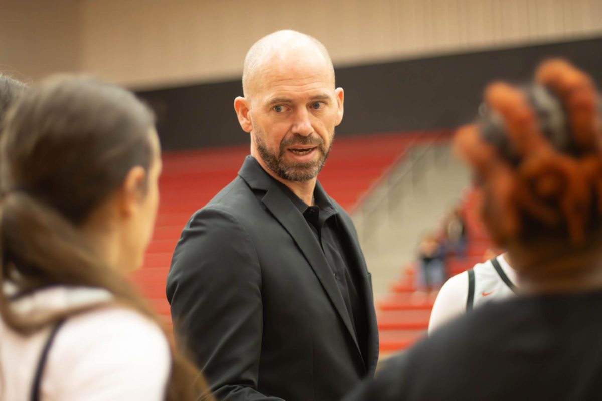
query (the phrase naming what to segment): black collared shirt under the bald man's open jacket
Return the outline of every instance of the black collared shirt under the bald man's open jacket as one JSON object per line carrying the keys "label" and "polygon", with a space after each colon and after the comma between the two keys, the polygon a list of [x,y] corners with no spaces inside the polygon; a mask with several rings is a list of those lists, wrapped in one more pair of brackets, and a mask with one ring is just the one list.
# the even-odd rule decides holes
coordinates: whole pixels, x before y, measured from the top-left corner
{"label": "black collared shirt under the bald man's open jacket", "polygon": [[352,257],[349,243],[344,241],[344,235],[341,232],[343,228],[340,227],[337,209],[332,206],[320,185],[316,185],[314,189],[314,206],[308,206],[287,186],[276,180],[275,182],[305,217],[315,239],[320,243],[326,262],[328,262],[341,296],[343,296],[365,360],[368,334],[367,315],[363,301],[365,295],[359,277],[359,267]]}

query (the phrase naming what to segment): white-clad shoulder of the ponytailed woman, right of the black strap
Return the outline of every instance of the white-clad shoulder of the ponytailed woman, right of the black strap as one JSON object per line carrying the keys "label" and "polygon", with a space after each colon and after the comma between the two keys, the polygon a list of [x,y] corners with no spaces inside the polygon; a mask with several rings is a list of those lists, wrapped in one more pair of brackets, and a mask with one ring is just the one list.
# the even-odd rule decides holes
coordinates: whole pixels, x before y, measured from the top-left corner
{"label": "white-clad shoulder of the ponytailed woman, right of the black strap", "polygon": [[170,362],[169,343],[157,323],[126,307],[102,307],[64,322],[49,353],[45,382],[66,399],[108,392],[119,399],[159,400]]}

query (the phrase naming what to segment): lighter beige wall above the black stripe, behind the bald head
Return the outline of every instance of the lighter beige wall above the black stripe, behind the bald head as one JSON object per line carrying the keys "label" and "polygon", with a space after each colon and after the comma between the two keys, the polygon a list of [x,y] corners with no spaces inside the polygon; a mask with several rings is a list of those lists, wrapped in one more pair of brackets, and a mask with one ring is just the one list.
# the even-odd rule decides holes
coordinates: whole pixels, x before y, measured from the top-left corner
{"label": "lighter beige wall above the black stripe, behind the bald head", "polygon": [[240,76],[262,35],[318,37],[338,66],[602,33],[602,0],[82,0],[81,65],[134,87]]}

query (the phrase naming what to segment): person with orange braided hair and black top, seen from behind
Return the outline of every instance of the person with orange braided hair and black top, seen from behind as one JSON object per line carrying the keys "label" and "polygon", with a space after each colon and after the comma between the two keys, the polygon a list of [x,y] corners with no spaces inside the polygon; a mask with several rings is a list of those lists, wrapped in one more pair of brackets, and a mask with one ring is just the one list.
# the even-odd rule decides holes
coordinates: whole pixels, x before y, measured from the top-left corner
{"label": "person with orange braided hair and black top, seen from behind", "polygon": [[485,90],[456,133],[483,224],[518,296],[489,302],[392,358],[345,401],[592,400],[602,394],[602,125],[591,78],[548,60]]}

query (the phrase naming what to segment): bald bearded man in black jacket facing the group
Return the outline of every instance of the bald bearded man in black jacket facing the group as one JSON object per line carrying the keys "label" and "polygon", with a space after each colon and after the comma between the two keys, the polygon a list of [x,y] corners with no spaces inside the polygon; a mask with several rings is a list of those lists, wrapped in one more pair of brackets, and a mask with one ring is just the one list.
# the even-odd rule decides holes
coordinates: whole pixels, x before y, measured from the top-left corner
{"label": "bald bearded man in black jacket facing the group", "polygon": [[243,93],[251,154],[182,231],[173,321],[218,400],[335,401],[378,358],[355,228],[317,182],[343,89],[320,42],[278,31],[249,50]]}

